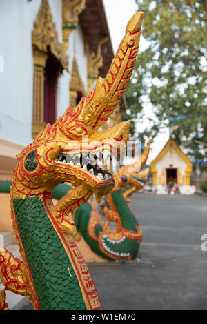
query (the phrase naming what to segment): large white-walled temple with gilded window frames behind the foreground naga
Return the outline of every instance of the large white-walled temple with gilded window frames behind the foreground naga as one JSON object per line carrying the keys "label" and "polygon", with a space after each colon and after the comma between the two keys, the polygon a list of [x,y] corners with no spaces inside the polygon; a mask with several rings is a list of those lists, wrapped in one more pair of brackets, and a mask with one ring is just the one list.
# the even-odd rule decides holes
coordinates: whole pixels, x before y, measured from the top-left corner
{"label": "large white-walled temple with gilded window frames behind the foreground naga", "polygon": [[[114,52],[103,0],[10,0],[0,11],[0,181],[11,181],[16,154],[87,96]],[[122,99],[110,126],[125,109]],[[9,194],[0,205],[8,230]]]}

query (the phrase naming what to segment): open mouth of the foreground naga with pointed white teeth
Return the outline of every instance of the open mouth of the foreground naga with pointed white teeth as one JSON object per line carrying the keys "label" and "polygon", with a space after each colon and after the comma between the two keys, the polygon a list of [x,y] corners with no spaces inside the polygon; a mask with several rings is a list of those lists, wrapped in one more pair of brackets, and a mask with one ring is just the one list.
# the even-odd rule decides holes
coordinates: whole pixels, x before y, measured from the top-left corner
{"label": "open mouth of the foreground naga with pointed white teeth", "polygon": [[67,163],[68,165],[75,165],[83,171],[88,172],[96,179],[101,181],[108,181],[112,179],[112,174],[108,172],[110,165],[117,165],[117,159],[112,156],[110,150],[101,150],[97,152],[82,153],[82,154],[63,154],[57,156],[56,163]]}

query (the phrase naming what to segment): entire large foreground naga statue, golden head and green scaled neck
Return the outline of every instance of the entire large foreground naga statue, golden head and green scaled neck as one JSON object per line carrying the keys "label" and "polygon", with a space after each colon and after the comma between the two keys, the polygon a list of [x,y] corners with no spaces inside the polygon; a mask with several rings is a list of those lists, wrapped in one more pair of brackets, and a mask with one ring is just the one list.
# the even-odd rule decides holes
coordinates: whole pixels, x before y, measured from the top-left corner
{"label": "entire large foreground naga statue, golden head and green scaled neck", "polygon": [[[34,310],[101,310],[101,302],[88,267],[72,236],[77,233],[71,212],[92,193],[99,202],[113,186],[112,175],[97,172],[95,165],[77,162],[77,157],[102,148],[112,152],[128,140],[130,122],[110,130],[97,130],[112,114],[124,93],[139,47],[143,12],[126,27],[106,78],[77,107],[37,135],[17,154],[11,197],[11,216],[22,261],[0,250],[0,309],[8,310],[5,290],[29,296]],[[87,136],[88,148],[83,142]],[[99,142],[97,146],[90,143]],[[75,143],[79,143],[79,151]],[[85,155],[84,155],[85,154]],[[101,173],[101,176],[100,176]],[[59,183],[74,187],[52,204],[52,190]]]}

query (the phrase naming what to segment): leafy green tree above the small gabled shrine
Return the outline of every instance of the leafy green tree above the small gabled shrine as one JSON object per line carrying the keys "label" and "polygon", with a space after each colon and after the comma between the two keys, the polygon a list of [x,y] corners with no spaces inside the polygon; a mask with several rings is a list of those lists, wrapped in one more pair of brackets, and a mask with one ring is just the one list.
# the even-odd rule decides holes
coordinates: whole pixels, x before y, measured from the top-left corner
{"label": "leafy green tree above the small gabled shrine", "polygon": [[142,34],[149,45],[137,56],[123,119],[143,118],[148,98],[156,121],[142,136],[156,136],[167,122],[177,143],[191,139],[196,155],[193,139],[207,143],[207,0],[135,1],[145,12]]}

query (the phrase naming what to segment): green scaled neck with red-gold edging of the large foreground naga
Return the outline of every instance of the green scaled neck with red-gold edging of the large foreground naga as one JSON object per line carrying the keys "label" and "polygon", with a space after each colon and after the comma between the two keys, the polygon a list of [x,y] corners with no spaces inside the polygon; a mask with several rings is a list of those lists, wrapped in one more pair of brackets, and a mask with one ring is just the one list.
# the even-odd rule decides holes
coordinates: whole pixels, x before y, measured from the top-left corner
{"label": "green scaled neck with red-gold edging of the large foreground naga", "polygon": [[59,230],[50,213],[50,199],[32,196],[12,202],[39,309],[101,309],[77,245]]}

